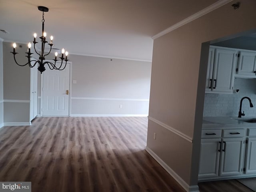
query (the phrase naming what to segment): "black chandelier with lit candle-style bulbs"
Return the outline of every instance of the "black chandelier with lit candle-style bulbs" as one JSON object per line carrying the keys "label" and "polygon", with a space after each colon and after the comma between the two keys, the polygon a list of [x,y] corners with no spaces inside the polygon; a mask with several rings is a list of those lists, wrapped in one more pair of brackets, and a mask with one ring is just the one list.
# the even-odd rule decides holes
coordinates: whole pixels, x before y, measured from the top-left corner
{"label": "black chandelier with lit candle-style bulbs", "polygon": [[[19,65],[19,66],[26,66],[27,64],[28,64],[28,66],[30,66],[30,68],[32,68],[32,67],[34,67],[34,66],[36,66],[36,64],[38,63],[38,70],[41,72],[41,74],[42,74],[42,72],[44,72],[45,71],[45,65],[47,64],[48,66],[49,66],[49,68],[50,68],[50,70],[54,70],[54,69],[56,69],[56,70],[64,70],[64,68],[66,67],[66,65],[67,65],[67,61],[68,61],[68,52],[66,51],[65,52],[65,50],[64,50],[64,48],[62,49],[62,55],[61,55],[61,57],[59,57],[60,59],[61,59],[61,64],[60,64],[60,66],[57,66],[56,65],[56,62],[58,61],[57,60],[57,56],[58,56],[58,53],[57,52],[55,52],[55,58],[53,59],[54,60],[54,63],[53,62],[49,62],[49,61],[44,61],[45,60],[45,56],[47,56],[48,54],[50,54],[50,52],[51,52],[51,50],[52,50],[52,46],[54,45],[54,44],[52,44],[52,40],[53,40],[53,36],[51,36],[50,37],[50,43],[48,43],[48,41],[46,41],[46,32],[44,31],[44,12],[48,12],[49,11],[49,9],[47,8],[47,7],[44,7],[44,6],[38,6],[38,10],[40,10],[40,11],[42,11],[43,12],[43,19],[42,19],[42,36],[41,37],[39,37],[40,39],[41,39],[41,42],[42,42],[42,46],[41,46],[41,53],[39,54],[37,51],[36,51],[36,44],[38,43],[38,42],[36,42],[36,33],[34,33],[34,41],[32,41],[33,42],[33,44],[34,44],[34,50],[35,50],[35,52],[36,52],[36,54],[38,54],[38,56],[39,56],[39,59],[38,60],[31,60],[30,58],[32,58],[31,57],[31,55],[33,54],[33,53],[31,53],[30,52],[30,48],[31,48],[31,43],[29,42],[28,43],[28,52],[26,52],[26,54],[27,54],[27,58],[28,58],[28,62],[26,63],[26,64],[18,64],[18,62],[16,61],[16,58],[15,58],[15,55],[17,54],[17,52],[15,51],[15,49],[16,49],[16,43],[14,43],[13,44],[13,52],[11,52],[12,54],[13,54],[13,56],[14,56],[14,61],[16,62],[16,64],[17,65]],[[50,46],[50,51],[47,53],[47,54],[44,54],[44,47],[45,47],[45,44],[46,43],[48,43],[48,45]],[[64,53],[65,53],[65,56],[66,57],[64,57]],[[63,60],[66,62],[63,62]],[[31,63],[31,62],[35,62],[35,63]],[[62,66],[62,63],[65,63],[65,65],[63,64],[63,66]]]}

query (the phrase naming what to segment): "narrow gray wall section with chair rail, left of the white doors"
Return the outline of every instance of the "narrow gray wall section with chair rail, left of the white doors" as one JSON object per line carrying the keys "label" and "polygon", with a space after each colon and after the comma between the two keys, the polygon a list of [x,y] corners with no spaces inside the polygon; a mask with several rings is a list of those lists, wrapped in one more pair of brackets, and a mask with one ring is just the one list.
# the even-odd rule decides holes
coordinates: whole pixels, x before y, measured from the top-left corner
{"label": "narrow gray wall section with chair rail, left of the white doors", "polygon": [[[22,46],[22,48],[20,48]],[[25,64],[28,59],[25,44],[17,44],[16,60],[19,64]],[[12,43],[3,43],[4,59],[4,124],[29,123],[30,106],[30,68],[21,67],[14,62]]]}

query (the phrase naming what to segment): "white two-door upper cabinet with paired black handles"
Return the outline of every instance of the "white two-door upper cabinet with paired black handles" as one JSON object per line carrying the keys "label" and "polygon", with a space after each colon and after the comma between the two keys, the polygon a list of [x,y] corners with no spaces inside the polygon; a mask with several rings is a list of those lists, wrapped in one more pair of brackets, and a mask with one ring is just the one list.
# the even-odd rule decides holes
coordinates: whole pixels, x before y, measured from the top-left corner
{"label": "white two-door upper cabinet with paired black handles", "polygon": [[237,55],[235,49],[210,46],[206,93],[232,94]]}

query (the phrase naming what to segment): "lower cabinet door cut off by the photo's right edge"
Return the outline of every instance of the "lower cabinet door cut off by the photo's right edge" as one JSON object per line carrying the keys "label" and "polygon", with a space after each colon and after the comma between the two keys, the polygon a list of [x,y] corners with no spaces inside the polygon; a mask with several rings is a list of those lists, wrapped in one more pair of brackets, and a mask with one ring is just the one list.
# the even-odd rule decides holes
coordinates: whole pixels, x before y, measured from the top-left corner
{"label": "lower cabinet door cut off by the photo's right edge", "polygon": [[245,173],[256,173],[256,138],[248,138]]}

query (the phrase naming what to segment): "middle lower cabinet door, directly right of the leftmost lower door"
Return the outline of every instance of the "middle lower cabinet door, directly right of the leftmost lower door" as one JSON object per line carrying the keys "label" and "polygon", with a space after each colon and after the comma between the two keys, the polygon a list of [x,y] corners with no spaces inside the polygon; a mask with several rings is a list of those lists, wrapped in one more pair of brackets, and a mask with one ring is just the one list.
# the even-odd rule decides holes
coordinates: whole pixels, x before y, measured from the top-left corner
{"label": "middle lower cabinet door, directly right of the leftmost lower door", "polygon": [[222,139],[220,176],[242,173],[244,155],[244,138]]}

